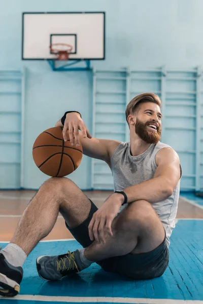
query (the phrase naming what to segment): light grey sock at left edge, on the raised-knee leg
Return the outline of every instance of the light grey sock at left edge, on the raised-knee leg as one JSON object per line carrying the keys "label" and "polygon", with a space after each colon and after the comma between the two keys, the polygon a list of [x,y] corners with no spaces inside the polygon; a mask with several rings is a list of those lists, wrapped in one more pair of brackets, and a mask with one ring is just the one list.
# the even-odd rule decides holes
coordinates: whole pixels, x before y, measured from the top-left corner
{"label": "light grey sock at left edge, on the raised-knee leg", "polygon": [[22,267],[27,255],[18,245],[10,243],[0,251],[6,260],[14,267]]}

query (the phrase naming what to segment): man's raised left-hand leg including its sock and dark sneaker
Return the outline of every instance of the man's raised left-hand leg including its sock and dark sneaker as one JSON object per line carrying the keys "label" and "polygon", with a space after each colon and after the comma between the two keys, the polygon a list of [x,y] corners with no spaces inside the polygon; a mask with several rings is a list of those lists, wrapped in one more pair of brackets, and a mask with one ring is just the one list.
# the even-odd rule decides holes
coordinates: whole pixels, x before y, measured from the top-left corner
{"label": "man's raised left-hand leg including its sock and dark sneaker", "polygon": [[0,295],[19,293],[22,265],[52,230],[59,211],[62,210],[67,224],[74,227],[88,217],[90,206],[88,198],[70,179],[47,180],[25,209],[11,243],[0,252]]}

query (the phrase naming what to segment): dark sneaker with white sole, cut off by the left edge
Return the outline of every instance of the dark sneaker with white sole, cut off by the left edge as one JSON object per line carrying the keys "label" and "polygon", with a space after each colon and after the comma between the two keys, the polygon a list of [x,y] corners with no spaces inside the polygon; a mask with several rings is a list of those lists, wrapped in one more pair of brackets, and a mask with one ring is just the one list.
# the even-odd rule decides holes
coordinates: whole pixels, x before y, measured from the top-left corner
{"label": "dark sneaker with white sole, cut off by the left edge", "polygon": [[4,255],[0,253],[0,295],[17,295],[20,291],[22,276],[22,267],[14,267],[6,260]]}

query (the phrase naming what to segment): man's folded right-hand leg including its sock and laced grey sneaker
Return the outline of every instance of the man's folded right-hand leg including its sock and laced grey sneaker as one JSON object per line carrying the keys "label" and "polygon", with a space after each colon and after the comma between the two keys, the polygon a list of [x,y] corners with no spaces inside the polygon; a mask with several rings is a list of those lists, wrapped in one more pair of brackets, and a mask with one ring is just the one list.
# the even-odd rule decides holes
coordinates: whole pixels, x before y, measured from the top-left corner
{"label": "man's folded right-hand leg including its sock and laced grey sneaker", "polygon": [[[64,213],[64,212],[63,212]],[[128,253],[149,252],[164,240],[163,225],[150,203],[137,201],[129,204],[113,221],[113,237],[106,243],[94,241],[89,247],[74,252],[74,256],[41,256],[37,259],[38,273],[45,280],[57,280],[70,274],[70,260],[75,259],[73,272],[87,268],[92,262]],[[80,227],[87,231],[87,226]],[[79,232],[78,232],[79,233]],[[87,232],[88,233],[88,232]]]}

